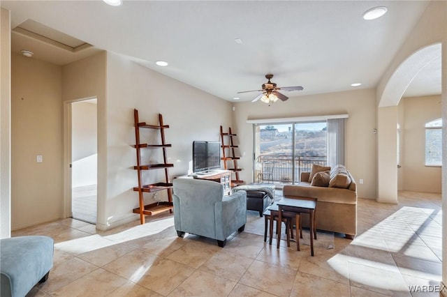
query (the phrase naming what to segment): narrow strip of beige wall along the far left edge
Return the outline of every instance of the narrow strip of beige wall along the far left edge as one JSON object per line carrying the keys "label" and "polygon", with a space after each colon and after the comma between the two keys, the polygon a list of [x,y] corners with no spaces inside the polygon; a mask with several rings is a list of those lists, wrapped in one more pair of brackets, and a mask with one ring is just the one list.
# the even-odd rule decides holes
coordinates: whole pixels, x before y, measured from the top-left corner
{"label": "narrow strip of beige wall along the far left edge", "polygon": [[9,11],[0,8],[0,238],[11,235],[11,27]]}

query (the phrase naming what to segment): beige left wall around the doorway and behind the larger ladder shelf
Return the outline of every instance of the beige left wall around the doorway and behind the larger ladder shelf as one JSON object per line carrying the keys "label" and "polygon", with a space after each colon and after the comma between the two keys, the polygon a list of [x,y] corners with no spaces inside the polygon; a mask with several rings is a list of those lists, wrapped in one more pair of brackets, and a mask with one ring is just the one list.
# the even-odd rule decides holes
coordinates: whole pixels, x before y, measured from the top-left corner
{"label": "beige left wall around the doorway and behind the larger ladder shelf", "polygon": [[[188,173],[193,140],[219,140],[219,126],[230,126],[232,119],[229,102],[105,52],[62,68],[16,55],[13,91],[13,229],[70,214],[71,201],[64,192],[71,189],[68,102],[98,98],[100,229],[138,218],[131,212],[138,206],[131,190],[137,183],[131,169],[133,108],[140,110],[142,121],[156,123],[160,112],[170,125],[166,140],[173,144],[168,149],[168,162],[175,164],[171,178]],[[36,155],[43,155],[43,163],[36,163]],[[158,162],[160,156],[154,153],[151,158]],[[162,177],[162,172],[151,174],[148,182]]]}

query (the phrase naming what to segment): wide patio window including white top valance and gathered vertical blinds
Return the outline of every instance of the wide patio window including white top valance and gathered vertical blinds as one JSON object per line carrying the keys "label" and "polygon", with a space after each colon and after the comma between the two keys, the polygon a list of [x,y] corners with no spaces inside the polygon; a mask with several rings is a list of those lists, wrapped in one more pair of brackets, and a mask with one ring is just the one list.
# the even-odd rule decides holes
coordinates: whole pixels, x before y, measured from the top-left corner
{"label": "wide patio window including white top valance and gathered vertical blinds", "polygon": [[298,183],[312,163],[344,165],[347,118],[337,114],[248,120],[254,132],[254,181]]}

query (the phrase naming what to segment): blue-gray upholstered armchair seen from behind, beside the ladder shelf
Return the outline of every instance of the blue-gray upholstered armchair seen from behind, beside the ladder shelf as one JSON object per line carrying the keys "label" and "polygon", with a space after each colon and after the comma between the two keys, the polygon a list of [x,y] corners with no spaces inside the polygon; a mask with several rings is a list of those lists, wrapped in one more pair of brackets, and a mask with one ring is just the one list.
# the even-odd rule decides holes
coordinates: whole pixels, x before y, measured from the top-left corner
{"label": "blue-gray upholstered armchair seen from behind, beside the ladder shelf", "polygon": [[223,196],[215,181],[175,178],[174,223],[177,235],[191,233],[217,240],[219,247],[234,231],[244,231],[247,222],[247,192]]}

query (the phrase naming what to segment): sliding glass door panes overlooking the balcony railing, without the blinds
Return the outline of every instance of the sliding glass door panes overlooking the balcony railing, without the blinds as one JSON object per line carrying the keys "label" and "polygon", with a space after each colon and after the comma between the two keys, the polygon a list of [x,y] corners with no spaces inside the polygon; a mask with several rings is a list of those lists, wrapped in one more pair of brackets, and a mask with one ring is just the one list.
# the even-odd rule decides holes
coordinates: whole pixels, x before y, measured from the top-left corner
{"label": "sliding glass door panes overlooking the balcony railing, without the blinds", "polygon": [[298,183],[311,164],[325,165],[326,121],[254,125],[254,181]]}

